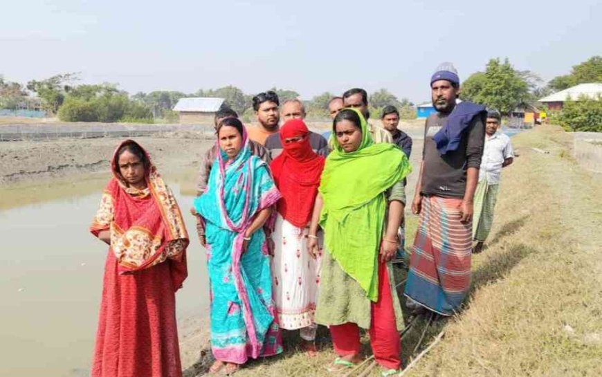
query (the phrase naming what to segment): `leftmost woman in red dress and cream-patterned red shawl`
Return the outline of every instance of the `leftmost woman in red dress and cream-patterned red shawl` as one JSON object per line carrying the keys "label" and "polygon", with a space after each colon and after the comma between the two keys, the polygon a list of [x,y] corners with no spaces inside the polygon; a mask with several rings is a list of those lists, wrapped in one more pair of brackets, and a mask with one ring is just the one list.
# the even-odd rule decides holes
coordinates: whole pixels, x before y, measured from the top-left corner
{"label": "leftmost woman in red dress and cream-patterned red shawl", "polygon": [[109,244],[92,377],[182,376],[176,291],[188,275],[180,208],[147,152],[122,142],[90,231]]}

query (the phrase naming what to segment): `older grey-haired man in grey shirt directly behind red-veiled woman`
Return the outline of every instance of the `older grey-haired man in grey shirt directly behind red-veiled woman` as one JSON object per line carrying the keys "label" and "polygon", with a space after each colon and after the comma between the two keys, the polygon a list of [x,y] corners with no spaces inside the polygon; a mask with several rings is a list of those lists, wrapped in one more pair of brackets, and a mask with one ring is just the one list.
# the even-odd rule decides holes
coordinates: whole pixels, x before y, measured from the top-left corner
{"label": "older grey-haired man in grey shirt directly behind red-veiled woman", "polygon": [[[291,119],[305,119],[305,107],[300,100],[286,100],[282,104],[280,116],[283,122]],[[320,156],[328,156],[330,149],[328,147],[328,142],[324,137],[312,131],[309,131],[309,135],[307,137],[309,138],[309,145],[313,151]],[[284,147],[282,147],[282,141],[280,140],[280,132],[268,136],[268,138],[266,138],[265,147],[269,151],[270,158],[275,160],[275,158],[279,156],[284,149]]]}

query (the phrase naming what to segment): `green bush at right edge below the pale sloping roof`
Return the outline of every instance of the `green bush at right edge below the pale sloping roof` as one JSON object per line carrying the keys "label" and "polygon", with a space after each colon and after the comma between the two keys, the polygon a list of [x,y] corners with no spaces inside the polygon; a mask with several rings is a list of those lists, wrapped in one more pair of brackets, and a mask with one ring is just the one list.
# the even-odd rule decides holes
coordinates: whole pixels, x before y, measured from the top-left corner
{"label": "green bush at right edge below the pale sloping roof", "polygon": [[602,131],[602,97],[582,96],[577,100],[568,98],[563,109],[554,116],[567,131]]}

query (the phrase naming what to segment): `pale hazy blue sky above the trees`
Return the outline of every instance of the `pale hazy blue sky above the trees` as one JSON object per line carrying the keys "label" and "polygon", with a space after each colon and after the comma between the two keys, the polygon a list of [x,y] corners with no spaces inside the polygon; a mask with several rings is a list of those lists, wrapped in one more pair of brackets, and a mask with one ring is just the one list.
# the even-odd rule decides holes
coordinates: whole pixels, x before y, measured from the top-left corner
{"label": "pale hazy blue sky above the trees", "polygon": [[493,57],[547,81],[602,55],[602,1],[20,0],[3,6],[0,75],[80,72],[134,94],[273,86],[311,99],[387,88],[421,103],[440,62]]}

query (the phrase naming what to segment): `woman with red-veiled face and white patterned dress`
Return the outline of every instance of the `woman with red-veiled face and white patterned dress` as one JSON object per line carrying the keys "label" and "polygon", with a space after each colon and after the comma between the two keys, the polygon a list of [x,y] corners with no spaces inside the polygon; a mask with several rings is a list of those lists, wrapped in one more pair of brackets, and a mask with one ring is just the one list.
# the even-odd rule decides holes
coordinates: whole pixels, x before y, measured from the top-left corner
{"label": "woman with red-veiled face and white patterned dress", "polygon": [[284,151],[270,165],[282,194],[273,233],[274,297],[280,328],[300,329],[304,349],[315,356],[317,325],[313,313],[320,282],[320,255],[307,252],[307,240],[325,158],[311,149],[309,129],[301,119],[284,123],[280,140]]}

